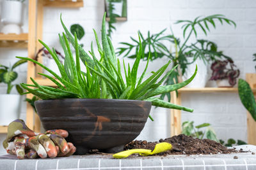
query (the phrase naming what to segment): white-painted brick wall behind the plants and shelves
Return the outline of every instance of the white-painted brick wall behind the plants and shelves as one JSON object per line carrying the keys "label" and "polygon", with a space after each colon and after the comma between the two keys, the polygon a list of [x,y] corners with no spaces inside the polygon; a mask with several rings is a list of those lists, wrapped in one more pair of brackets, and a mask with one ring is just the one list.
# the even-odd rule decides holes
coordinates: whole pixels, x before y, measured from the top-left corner
{"label": "white-painted brick wall behind the plants and shelves", "polygon": [[[216,30],[212,29],[207,39],[215,41],[220,50],[235,60],[241,70],[241,77],[244,78],[245,73],[255,72],[256,63],[252,62],[252,54],[256,53],[255,10],[256,1],[254,0],[128,0],[128,21],[116,24],[116,31],[112,38],[113,45],[117,48],[118,42],[130,41],[129,36],[137,36],[138,30],[145,34],[148,30],[156,33],[169,28],[171,24],[176,36],[181,38],[180,25],[173,25],[176,20],[193,19],[198,15],[223,14],[234,20],[237,28],[234,29],[230,25],[218,25]],[[60,45],[58,45],[57,33],[63,31],[60,13],[67,27],[75,23],[84,26],[86,36],[82,39],[82,43],[86,46],[86,50],[89,50],[91,41],[94,41],[92,28],[95,28],[97,32],[100,31],[104,13],[103,0],[84,0],[84,8],[80,9],[45,8],[43,40],[58,50],[60,50]],[[25,24],[24,28],[27,27],[28,25]],[[199,37],[205,38],[203,32],[200,32]],[[0,48],[0,62],[3,64],[15,62],[15,55],[26,56],[26,51]],[[132,62],[132,60],[127,61]],[[149,69],[156,70],[164,62],[166,59],[150,63]],[[19,71],[19,81],[26,81],[26,66],[20,67]],[[211,82],[209,85],[215,84]],[[4,88],[0,85],[1,93],[5,91]],[[246,141],[246,110],[237,94],[182,94],[182,104],[195,109],[194,113],[182,113],[182,121],[194,120],[195,124],[209,122],[219,138]],[[23,106],[26,108],[25,105]],[[22,117],[25,113],[26,110],[22,109]],[[138,139],[156,141],[160,138],[167,138],[170,134],[169,113],[170,110],[152,108],[151,114],[155,122],[148,121]]]}

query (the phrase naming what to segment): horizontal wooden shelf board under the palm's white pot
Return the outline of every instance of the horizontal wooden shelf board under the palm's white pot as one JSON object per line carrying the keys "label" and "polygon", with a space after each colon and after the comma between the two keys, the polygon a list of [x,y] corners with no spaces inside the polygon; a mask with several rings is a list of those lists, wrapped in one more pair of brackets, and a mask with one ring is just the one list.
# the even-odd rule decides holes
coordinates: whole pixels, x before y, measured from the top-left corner
{"label": "horizontal wooden shelf board under the palm's white pot", "polygon": [[205,87],[205,88],[182,88],[178,90],[180,93],[186,92],[202,92],[202,93],[213,93],[213,92],[238,92],[237,88],[234,87]]}

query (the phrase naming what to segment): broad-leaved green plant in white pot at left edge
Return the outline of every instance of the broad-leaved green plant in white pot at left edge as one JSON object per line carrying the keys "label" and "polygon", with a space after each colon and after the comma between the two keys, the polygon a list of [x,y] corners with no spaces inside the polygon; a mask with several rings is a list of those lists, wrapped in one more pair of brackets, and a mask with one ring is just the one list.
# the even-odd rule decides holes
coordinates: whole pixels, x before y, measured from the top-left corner
{"label": "broad-leaved green plant in white pot at left edge", "polygon": [[0,64],[0,83],[7,84],[6,94],[0,94],[0,125],[8,125],[13,120],[19,118],[20,94],[22,94],[23,90],[19,85],[16,85],[19,94],[10,93],[14,86],[12,82],[18,77],[18,73],[13,71],[13,69],[24,62],[26,60],[18,60],[12,67]]}

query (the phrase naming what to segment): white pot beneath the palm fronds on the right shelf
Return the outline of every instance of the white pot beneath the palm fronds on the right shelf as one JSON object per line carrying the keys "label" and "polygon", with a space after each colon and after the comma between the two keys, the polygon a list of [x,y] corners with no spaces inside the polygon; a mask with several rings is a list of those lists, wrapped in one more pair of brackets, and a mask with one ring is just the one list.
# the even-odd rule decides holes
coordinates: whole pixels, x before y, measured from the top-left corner
{"label": "white pot beneath the palm fronds on the right shelf", "polygon": [[[188,62],[192,61],[193,57],[189,57]],[[195,72],[196,65],[198,71],[196,73],[195,78],[188,85],[186,85],[186,87],[188,88],[204,88],[207,83],[207,64],[205,64],[204,61],[200,59],[197,59],[195,62],[193,62],[193,64],[188,65],[186,73],[184,73],[184,75],[182,76],[183,81],[188,80],[193,75],[193,73]]]}

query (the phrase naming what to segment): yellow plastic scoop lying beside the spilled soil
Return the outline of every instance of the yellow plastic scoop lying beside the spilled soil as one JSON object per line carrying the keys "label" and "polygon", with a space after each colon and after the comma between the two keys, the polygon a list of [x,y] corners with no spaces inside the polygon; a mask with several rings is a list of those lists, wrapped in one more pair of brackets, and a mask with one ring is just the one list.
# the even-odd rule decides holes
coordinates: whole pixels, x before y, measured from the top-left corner
{"label": "yellow plastic scoop lying beside the spilled soil", "polygon": [[146,150],[146,149],[125,150],[123,152],[115,153],[113,157],[117,159],[122,159],[122,158],[129,157],[129,155],[132,155],[134,153],[140,153],[140,155],[148,156],[148,155],[154,155],[157,153],[165,152],[171,149],[172,149],[172,145],[170,143],[162,142],[162,143],[157,143],[153,151]]}

